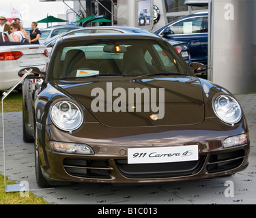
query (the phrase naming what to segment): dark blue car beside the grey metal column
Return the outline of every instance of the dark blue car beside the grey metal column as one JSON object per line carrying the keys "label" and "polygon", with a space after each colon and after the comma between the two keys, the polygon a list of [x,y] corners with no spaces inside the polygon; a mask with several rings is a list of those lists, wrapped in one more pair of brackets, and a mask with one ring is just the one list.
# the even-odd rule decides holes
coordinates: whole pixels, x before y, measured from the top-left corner
{"label": "dark blue car beside the grey metal column", "polygon": [[208,64],[208,13],[184,16],[155,31],[167,40],[187,42],[191,61]]}

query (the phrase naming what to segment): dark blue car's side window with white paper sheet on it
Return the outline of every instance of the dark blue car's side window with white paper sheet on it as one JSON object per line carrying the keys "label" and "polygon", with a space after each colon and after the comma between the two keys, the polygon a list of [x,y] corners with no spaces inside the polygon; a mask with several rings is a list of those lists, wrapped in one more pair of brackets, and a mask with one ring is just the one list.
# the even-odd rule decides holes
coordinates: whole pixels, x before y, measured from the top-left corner
{"label": "dark blue car's side window with white paper sheet on it", "polygon": [[202,33],[203,17],[188,18],[171,26],[171,34]]}

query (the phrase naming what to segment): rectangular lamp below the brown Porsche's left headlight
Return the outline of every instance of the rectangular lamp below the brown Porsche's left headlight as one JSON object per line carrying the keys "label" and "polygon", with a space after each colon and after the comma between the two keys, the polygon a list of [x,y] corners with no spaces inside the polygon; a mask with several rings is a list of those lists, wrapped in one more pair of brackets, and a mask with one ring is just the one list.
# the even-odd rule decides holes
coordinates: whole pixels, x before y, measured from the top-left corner
{"label": "rectangular lamp below the brown Porsche's left headlight", "polygon": [[50,142],[53,151],[81,155],[94,155],[94,150],[88,144],[76,144],[65,142]]}

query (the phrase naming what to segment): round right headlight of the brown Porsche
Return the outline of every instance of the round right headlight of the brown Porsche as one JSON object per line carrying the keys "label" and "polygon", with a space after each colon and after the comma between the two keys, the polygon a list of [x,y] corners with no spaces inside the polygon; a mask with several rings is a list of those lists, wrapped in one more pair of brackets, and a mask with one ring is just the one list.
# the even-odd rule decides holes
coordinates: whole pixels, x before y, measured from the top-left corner
{"label": "round right headlight of the brown Porsche", "polygon": [[219,95],[216,97],[213,102],[213,108],[218,118],[225,123],[238,123],[242,117],[240,105],[230,95]]}

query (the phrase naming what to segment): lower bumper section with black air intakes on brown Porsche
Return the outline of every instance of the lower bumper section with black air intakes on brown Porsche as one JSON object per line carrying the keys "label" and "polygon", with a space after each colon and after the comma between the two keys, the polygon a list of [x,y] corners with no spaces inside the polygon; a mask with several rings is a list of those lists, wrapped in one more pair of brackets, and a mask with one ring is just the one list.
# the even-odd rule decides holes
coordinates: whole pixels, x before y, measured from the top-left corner
{"label": "lower bumper section with black air intakes on brown Porsche", "polygon": [[126,159],[74,157],[48,152],[50,180],[101,183],[157,183],[233,174],[248,166],[248,149],[199,155],[199,161],[129,165]]}

